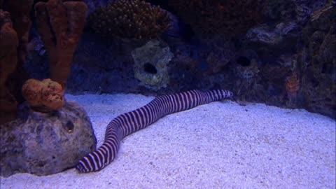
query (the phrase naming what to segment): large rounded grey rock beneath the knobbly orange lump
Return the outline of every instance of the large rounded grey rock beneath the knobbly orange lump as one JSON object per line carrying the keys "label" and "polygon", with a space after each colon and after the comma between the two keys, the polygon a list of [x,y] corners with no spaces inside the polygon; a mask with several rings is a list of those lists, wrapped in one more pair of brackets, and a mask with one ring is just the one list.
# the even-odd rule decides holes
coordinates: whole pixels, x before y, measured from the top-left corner
{"label": "large rounded grey rock beneath the knobbly orange lump", "polygon": [[90,118],[74,102],[50,113],[33,111],[25,103],[19,113],[1,125],[1,176],[62,172],[96,148]]}

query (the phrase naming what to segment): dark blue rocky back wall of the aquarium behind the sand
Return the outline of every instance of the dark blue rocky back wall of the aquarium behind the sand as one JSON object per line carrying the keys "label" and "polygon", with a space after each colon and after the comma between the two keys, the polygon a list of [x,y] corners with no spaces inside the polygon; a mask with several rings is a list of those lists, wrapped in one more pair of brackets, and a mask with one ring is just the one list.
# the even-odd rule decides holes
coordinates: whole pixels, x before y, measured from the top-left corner
{"label": "dark blue rocky back wall of the aquarium behind the sand", "polygon": [[[133,27],[118,25],[132,21],[122,18],[130,10],[126,1],[118,7],[109,6],[112,1],[84,2],[87,18],[68,93],[158,95],[221,88],[232,90],[237,101],[335,118],[335,1],[146,1],[160,6],[160,17],[131,12],[149,14],[160,24],[139,18],[133,21],[144,24]],[[116,8],[120,15],[111,14]],[[31,18],[24,68],[29,78],[41,80],[50,77],[50,59],[34,13]]]}

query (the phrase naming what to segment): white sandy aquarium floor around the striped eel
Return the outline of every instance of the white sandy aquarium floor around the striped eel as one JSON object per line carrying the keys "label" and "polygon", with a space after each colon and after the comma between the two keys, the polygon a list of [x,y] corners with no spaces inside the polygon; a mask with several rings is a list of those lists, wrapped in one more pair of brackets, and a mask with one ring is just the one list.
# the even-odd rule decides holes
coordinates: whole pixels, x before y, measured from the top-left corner
{"label": "white sandy aquarium floor around the striped eel", "polygon": [[[98,146],[112,118],[153,99],[66,95],[83,105]],[[335,120],[225,100],[165,116],[126,137],[100,172],[1,177],[6,188],[335,188]]]}

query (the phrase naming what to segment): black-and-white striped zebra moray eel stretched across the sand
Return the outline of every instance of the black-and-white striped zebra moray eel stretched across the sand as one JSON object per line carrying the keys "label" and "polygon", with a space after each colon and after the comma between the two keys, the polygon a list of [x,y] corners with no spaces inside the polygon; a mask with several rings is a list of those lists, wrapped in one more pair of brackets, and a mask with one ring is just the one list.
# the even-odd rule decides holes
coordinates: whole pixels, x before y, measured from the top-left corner
{"label": "black-and-white striped zebra moray eel stretched across the sand", "polygon": [[76,165],[80,173],[97,172],[109,165],[119,150],[120,141],[170,113],[191,109],[201,104],[232,97],[228,90],[190,90],[162,95],[139,109],[124,113],[111,120],[106,127],[105,141],[96,151],[89,153]]}

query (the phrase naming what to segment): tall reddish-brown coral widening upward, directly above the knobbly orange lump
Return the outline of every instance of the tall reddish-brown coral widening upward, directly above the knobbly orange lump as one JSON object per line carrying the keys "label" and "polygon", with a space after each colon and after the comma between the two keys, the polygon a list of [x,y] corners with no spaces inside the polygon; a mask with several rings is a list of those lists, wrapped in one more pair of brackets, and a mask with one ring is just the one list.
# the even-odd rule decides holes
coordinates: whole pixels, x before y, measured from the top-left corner
{"label": "tall reddish-brown coral widening upward, directly above the knobbly orange lump", "polygon": [[35,5],[38,32],[50,57],[51,78],[63,88],[70,74],[73,52],[83,33],[86,10],[83,2],[50,0]]}

